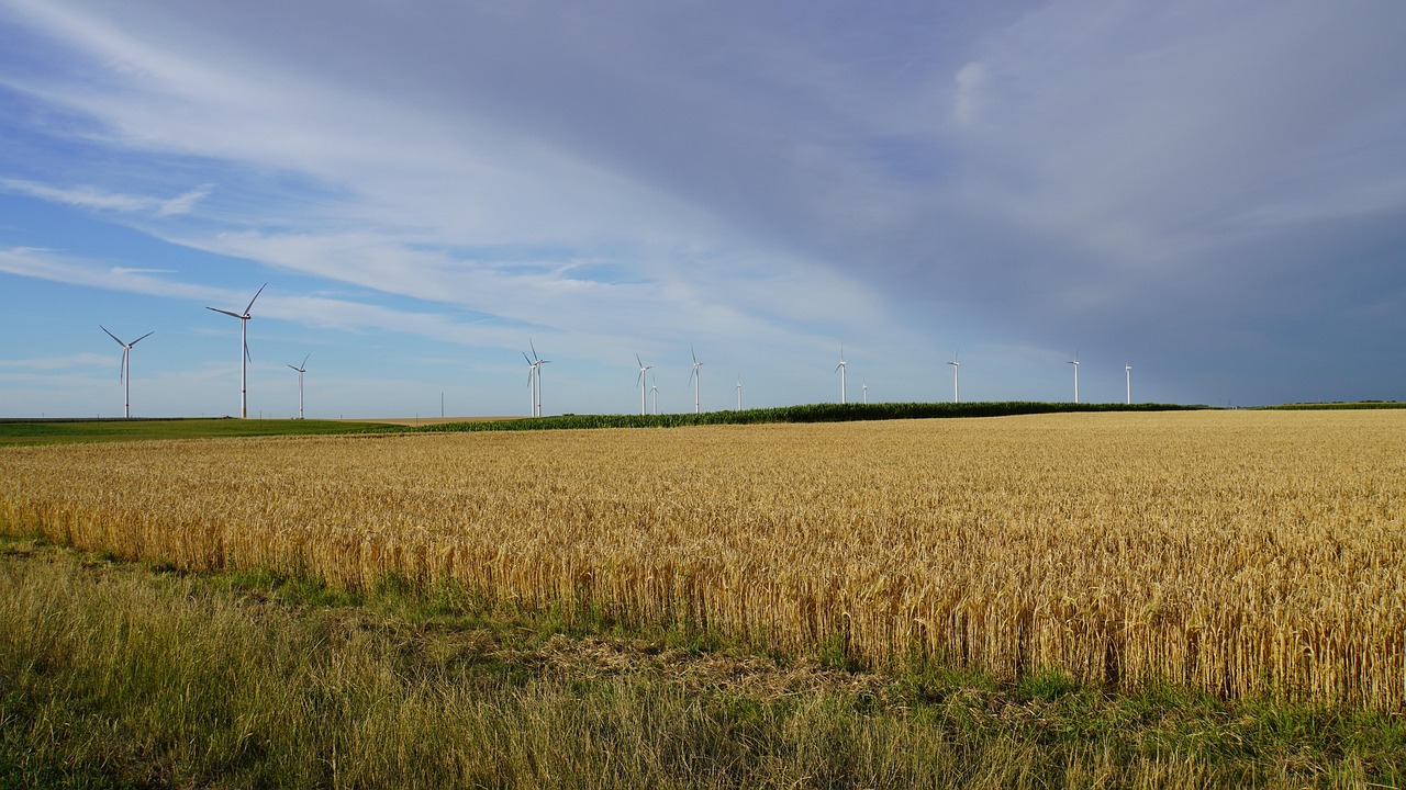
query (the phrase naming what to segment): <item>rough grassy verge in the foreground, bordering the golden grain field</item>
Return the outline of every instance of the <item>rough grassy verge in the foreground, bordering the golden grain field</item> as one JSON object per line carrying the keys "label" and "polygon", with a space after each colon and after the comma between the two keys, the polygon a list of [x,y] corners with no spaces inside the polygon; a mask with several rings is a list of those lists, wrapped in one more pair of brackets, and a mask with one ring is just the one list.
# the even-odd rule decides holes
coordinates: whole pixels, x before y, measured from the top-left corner
{"label": "rough grassy verge in the foreground, bordering the golden grain field", "polygon": [[0,787],[1403,787],[1395,714],[0,541]]}

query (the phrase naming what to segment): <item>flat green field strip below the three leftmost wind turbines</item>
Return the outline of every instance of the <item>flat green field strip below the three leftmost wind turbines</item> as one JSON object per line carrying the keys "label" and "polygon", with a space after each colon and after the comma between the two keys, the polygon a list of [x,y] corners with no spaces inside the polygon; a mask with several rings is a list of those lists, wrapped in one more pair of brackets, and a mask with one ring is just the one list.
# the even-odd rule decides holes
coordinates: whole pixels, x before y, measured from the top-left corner
{"label": "flat green field strip below the three leftmost wind turbines", "polygon": [[339,420],[0,420],[0,447],[11,444],[75,444],[152,439],[217,439],[231,436],[323,436],[405,430],[396,425]]}

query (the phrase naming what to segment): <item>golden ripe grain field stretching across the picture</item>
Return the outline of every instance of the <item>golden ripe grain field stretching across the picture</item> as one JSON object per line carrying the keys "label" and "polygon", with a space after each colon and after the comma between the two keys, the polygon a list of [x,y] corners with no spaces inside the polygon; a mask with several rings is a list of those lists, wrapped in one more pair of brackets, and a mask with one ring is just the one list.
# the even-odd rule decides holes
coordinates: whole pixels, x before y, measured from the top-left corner
{"label": "golden ripe grain field stretching across the picture", "polygon": [[1406,707],[1406,412],[0,450],[0,530],[894,666]]}

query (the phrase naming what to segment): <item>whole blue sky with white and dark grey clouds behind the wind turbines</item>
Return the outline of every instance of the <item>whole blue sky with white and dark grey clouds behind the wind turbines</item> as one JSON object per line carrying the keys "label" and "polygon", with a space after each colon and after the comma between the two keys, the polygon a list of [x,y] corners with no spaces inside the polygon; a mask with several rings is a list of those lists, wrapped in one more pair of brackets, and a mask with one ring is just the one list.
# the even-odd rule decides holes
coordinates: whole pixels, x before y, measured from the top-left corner
{"label": "whole blue sky with white and dark grey clouds behind the wind turbines", "polygon": [[[1406,399],[1406,3],[0,0],[0,417]],[[844,385],[837,365],[844,354]],[[950,361],[957,360],[959,368]],[[1132,370],[1128,370],[1128,365]],[[654,402],[648,403],[654,409]]]}

